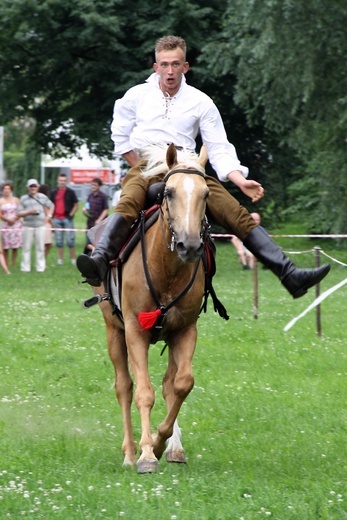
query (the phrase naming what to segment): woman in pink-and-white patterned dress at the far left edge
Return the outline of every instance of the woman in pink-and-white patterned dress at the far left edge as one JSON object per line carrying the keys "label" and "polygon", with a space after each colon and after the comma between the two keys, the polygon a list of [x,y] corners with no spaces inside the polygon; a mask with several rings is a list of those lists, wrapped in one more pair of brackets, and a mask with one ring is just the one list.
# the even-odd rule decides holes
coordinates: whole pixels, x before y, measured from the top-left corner
{"label": "woman in pink-and-white patterned dress at the far left edge", "polygon": [[6,265],[10,265],[9,251],[11,251],[11,266],[17,262],[18,249],[22,247],[22,222],[17,215],[19,199],[13,196],[10,182],[2,185],[0,198],[0,218],[2,220],[2,248]]}

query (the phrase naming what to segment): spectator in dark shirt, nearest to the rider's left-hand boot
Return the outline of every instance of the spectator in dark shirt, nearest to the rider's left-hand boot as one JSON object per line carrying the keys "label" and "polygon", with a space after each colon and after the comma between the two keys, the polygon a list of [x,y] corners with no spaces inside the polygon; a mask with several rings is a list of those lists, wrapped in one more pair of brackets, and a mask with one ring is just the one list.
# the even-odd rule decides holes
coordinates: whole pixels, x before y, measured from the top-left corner
{"label": "spectator in dark shirt, nearest to the rider's left-hand boot", "polygon": [[[90,183],[91,193],[88,195],[86,204],[82,209],[83,214],[87,217],[87,229],[99,224],[107,217],[108,214],[108,198],[105,193],[101,191],[102,180],[96,177]],[[89,254],[92,250],[91,242],[86,235],[85,254]]]}

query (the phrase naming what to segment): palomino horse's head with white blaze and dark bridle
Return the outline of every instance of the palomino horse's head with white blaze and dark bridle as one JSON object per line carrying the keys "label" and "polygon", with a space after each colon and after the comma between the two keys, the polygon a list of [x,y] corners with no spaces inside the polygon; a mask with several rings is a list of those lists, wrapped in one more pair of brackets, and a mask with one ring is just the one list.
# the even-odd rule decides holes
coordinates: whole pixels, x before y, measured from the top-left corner
{"label": "palomino horse's head with white blaze and dark bridle", "polygon": [[183,262],[194,262],[203,251],[203,226],[209,190],[205,181],[205,148],[200,156],[188,164],[177,161],[177,150],[170,145],[166,156],[169,172],[165,177],[163,210]]}

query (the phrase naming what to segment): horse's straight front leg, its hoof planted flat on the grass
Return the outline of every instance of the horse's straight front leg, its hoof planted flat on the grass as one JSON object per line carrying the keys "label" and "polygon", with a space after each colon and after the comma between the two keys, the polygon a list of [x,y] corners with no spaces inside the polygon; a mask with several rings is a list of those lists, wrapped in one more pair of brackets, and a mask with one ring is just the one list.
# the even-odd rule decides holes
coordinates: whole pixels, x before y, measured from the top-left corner
{"label": "horse's straight front leg, its hoof planted flat on the grass", "polygon": [[158,470],[158,459],[153,452],[150,414],[155,401],[155,393],[148,373],[149,340],[143,334],[132,334],[126,328],[129,360],[136,383],[135,403],[141,418],[141,454],[137,461],[138,473],[153,473]]}

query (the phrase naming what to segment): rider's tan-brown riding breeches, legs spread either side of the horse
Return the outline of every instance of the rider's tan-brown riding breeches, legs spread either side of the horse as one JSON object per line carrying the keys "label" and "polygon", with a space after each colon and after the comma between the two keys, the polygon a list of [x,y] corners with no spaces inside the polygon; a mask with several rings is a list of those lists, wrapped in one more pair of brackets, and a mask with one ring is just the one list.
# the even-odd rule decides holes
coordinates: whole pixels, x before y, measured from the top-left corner
{"label": "rider's tan-brown riding breeches, legs spread either side of the horse", "polygon": [[[115,212],[122,215],[129,225],[132,225],[145,207],[148,186],[162,181],[163,177],[164,175],[143,177],[139,168],[131,168],[124,177],[122,194],[115,207]],[[257,224],[248,211],[217,179],[207,175],[206,183],[210,190],[207,199],[208,214],[216,224],[243,241]]]}

